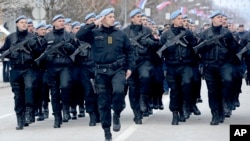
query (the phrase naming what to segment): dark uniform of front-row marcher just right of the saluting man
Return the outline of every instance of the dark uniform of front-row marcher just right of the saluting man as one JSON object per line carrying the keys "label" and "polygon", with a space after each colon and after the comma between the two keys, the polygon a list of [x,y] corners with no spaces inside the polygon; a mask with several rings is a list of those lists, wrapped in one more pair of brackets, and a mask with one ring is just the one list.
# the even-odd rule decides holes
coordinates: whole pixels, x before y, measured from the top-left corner
{"label": "dark uniform of front-row marcher just right of the saluting man", "polygon": [[[152,30],[143,25],[131,24],[124,28],[123,31],[128,35],[130,39],[135,38],[139,34],[151,35],[151,37],[147,39],[144,38],[138,41],[139,44],[141,44],[142,48],[138,47],[137,45],[133,45],[133,47],[135,48],[136,68],[132,73],[132,76],[128,80],[129,100],[135,116],[134,121],[136,124],[141,124],[141,112],[143,112],[145,116],[149,115],[148,102],[151,91],[150,79],[152,76],[152,70],[154,68],[151,60],[151,51],[153,50],[153,47],[158,45],[158,42],[154,42],[152,39],[150,39],[153,38]],[[150,43],[145,42],[147,40],[149,40]]]}

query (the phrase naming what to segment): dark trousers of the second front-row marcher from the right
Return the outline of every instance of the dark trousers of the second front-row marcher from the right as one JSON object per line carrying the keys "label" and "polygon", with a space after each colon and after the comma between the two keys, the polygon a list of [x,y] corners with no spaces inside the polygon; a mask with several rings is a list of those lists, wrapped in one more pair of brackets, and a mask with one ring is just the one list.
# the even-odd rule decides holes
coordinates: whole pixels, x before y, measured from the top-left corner
{"label": "dark trousers of the second front-row marcher from the right", "polygon": [[170,111],[181,111],[184,103],[190,105],[192,77],[193,69],[190,65],[168,66],[167,81],[170,87]]}

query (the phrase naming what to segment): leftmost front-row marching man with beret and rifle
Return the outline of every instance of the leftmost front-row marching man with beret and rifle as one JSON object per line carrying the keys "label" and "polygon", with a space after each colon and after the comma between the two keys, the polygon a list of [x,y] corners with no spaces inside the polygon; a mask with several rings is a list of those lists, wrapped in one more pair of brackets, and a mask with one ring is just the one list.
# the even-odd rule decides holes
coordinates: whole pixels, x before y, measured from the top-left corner
{"label": "leftmost front-row marching man with beret and rifle", "polygon": [[35,35],[28,32],[26,16],[16,19],[17,30],[7,36],[0,49],[3,57],[10,59],[10,84],[14,93],[17,130],[34,122],[34,90],[36,87],[37,67],[34,54],[40,52]]}

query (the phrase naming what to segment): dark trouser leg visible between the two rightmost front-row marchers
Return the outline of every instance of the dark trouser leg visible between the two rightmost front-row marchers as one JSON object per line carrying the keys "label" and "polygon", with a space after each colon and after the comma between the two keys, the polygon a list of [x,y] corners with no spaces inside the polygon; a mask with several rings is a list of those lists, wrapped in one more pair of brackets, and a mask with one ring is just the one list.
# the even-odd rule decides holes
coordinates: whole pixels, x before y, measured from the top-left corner
{"label": "dark trouser leg visible between the two rightmost front-row marchers", "polygon": [[199,71],[199,66],[193,66],[193,81],[192,81],[192,98],[191,104],[195,105],[197,98],[200,97],[201,90],[201,74]]}

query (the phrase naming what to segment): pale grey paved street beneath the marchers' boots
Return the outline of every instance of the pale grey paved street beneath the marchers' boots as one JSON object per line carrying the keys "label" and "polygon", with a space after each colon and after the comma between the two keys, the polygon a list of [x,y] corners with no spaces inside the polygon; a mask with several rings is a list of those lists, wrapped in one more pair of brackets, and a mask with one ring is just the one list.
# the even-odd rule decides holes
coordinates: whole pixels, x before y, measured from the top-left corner
{"label": "pale grey paved street beneath the marchers' boots", "polygon": [[[1,69],[1,68],[0,68]],[[0,79],[2,76],[0,77]],[[53,128],[53,117],[36,121],[24,130],[17,131],[14,114],[13,94],[8,84],[0,88],[0,141],[104,141],[104,134],[100,124],[89,127],[89,117],[70,120],[63,123],[61,128]],[[121,115],[122,128],[120,132],[112,132],[114,141],[229,141],[230,124],[250,124],[250,87],[243,83],[243,93],[240,95],[241,106],[233,111],[231,118],[218,126],[210,126],[210,110],[207,103],[207,90],[203,81],[202,99],[198,104],[200,116],[192,115],[187,122],[178,126],[171,125],[172,114],[168,109],[169,95],[164,95],[165,109],[155,110],[154,115],[143,119],[142,125],[135,125],[129,107],[128,98],[126,109]],[[51,108],[51,106],[50,106]],[[51,110],[50,110],[51,111]]]}

